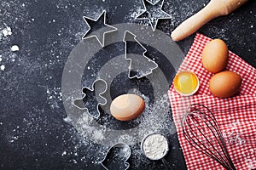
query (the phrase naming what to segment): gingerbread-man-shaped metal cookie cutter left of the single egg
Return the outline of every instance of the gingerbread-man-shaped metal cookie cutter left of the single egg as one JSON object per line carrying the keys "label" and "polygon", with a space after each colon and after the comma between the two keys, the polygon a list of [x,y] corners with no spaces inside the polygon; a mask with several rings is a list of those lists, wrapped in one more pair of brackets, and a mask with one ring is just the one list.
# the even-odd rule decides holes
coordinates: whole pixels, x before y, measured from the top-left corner
{"label": "gingerbread-man-shaped metal cookie cutter left of the single egg", "polygon": [[[104,89],[96,95],[95,87],[96,84],[99,83],[104,83]],[[101,85],[101,84],[100,84]],[[90,116],[93,116],[94,118],[99,118],[101,115],[99,111],[100,105],[106,105],[107,104],[107,99],[102,97],[102,94],[104,94],[107,91],[108,84],[102,79],[97,79],[95,82],[93,82],[92,87],[84,87],[82,89],[84,96],[81,99],[74,99],[73,100],[73,105],[75,105],[79,110],[87,110],[88,114]],[[103,102],[99,101],[99,98],[104,100]],[[96,115],[93,114],[94,111],[96,112]]]}

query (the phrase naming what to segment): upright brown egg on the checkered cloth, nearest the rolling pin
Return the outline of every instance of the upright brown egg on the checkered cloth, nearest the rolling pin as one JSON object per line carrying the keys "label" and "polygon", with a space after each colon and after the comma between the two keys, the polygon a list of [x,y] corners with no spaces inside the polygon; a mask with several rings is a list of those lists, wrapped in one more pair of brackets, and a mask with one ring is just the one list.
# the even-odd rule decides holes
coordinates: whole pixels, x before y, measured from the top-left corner
{"label": "upright brown egg on the checkered cloth, nearest the rolling pin", "polygon": [[202,53],[203,66],[212,73],[223,71],[228,64],[229,50],[221,39],[214,39],[207,43]]}

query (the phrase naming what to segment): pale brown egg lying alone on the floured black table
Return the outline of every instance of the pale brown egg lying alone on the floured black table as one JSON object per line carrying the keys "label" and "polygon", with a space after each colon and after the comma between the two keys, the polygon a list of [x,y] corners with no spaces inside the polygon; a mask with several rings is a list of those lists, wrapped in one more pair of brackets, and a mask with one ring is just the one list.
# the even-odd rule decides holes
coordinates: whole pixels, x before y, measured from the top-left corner
{"label": "pale brown egg lying alone on the floured black table", "polygon": [[119,121],[131,121],[141,115],[144,108],[143,98],[136,94],[123,94],[113,99],[110,112]]}

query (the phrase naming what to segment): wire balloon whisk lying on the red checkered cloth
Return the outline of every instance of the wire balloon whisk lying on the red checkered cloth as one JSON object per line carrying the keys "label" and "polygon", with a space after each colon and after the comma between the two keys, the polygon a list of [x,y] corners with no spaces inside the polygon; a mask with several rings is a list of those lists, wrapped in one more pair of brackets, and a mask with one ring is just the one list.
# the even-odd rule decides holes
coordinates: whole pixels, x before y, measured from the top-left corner
{"label": "wire balloon whisk lying on the red checkered cloth", "polygon": [[224,143],[218,122],[205,105],[190,105],[181,122],[185,139],[196,150],[218,161],[228,170],[236,170]]}

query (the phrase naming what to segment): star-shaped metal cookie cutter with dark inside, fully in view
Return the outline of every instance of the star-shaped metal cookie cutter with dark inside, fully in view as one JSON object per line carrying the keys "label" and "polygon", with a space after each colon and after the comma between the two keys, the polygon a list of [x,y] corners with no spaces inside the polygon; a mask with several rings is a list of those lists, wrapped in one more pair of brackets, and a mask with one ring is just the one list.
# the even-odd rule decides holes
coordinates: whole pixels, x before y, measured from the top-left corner
{"label": "star-shaped metal cookie cutter with dark inside, fully in view", "polygon": [[[102,14],[100,14],[96,20],[91,19],[91,18],[86,17],[86,16],[84,16],[83,18],[84,18],[84,21],[86,22],[87,26],[89,26],[89,29],[84,33],[84,36],[82,37],[82,39],[87,39],[87,38],[90,38],[90,37],[96,37],[96,40],[101,44],[102,48],[105,45],[105,34],[108,34],[109,32],[113,32],[113,31],[118,30],[116,27],[109,26],[106,23],[106,10],[103,10]],[[94,34],[90,35],[89,37],[86,37],[87,34],[90,33],[90,30],[91,30],[90,25],[92,25],[91,23],[93,22],[94,24],[101,24],[100,22],[102,20],[103,20],[103,26],[101,26],[98,30],[100,30],[101,28],[104,28],[104,29],[108,29],[108,31],[103,31],[103,33],[100,32],[100,33],[98,33],[98,35],[96,35],[96,33],[94,33]],[[101,38],[99,38],[99,37],[101,37]]]}

